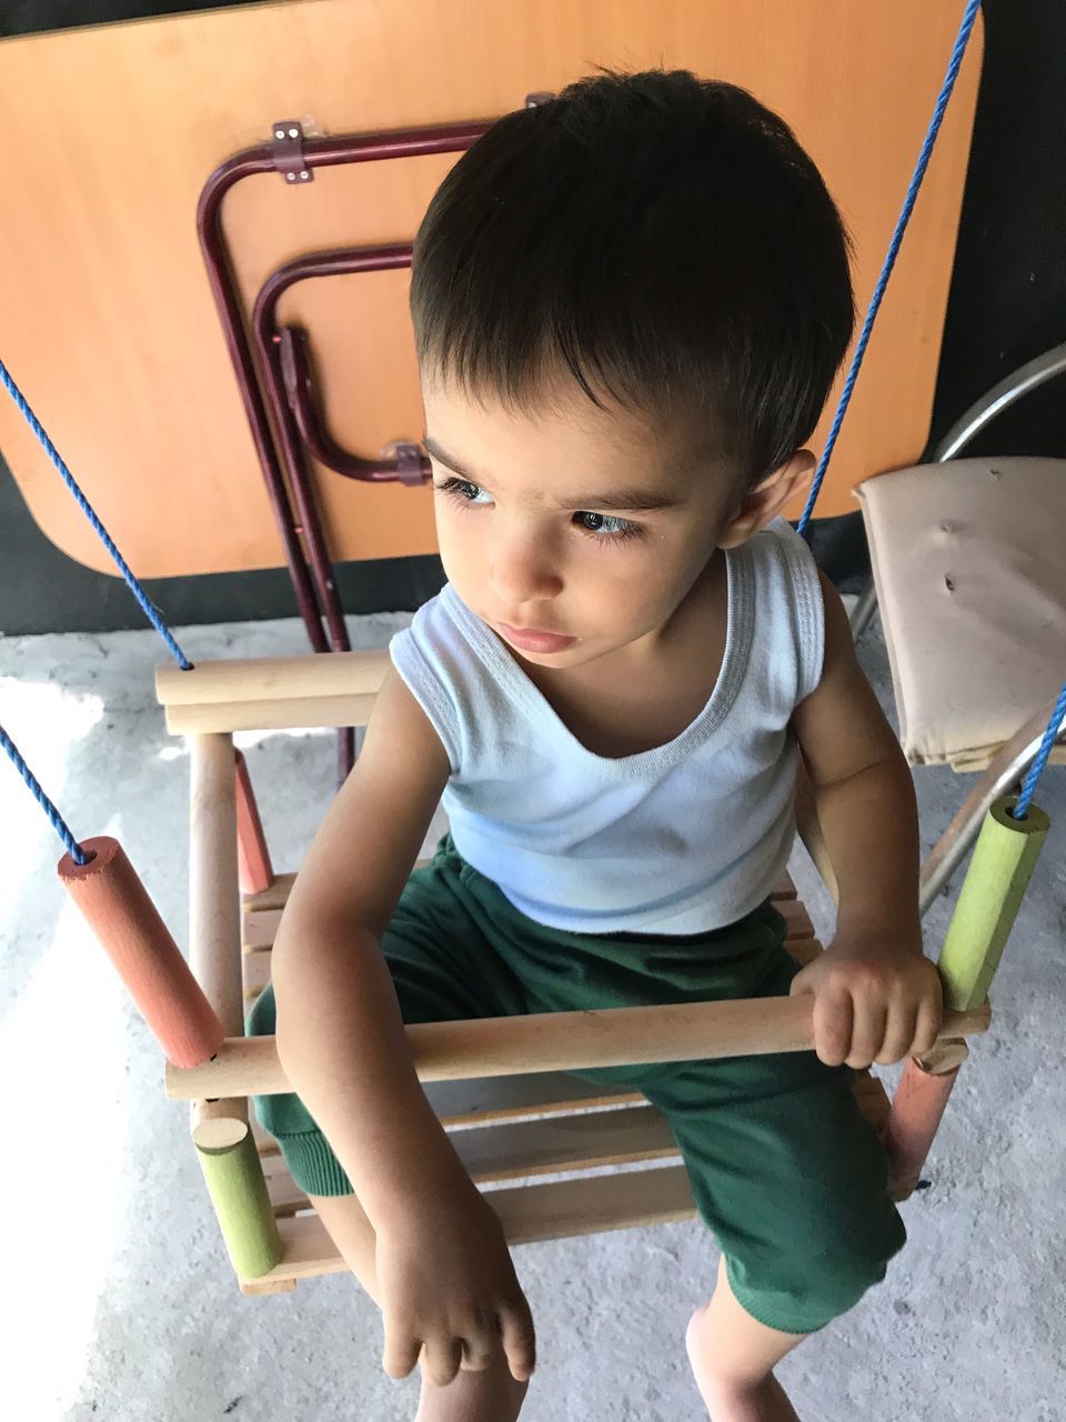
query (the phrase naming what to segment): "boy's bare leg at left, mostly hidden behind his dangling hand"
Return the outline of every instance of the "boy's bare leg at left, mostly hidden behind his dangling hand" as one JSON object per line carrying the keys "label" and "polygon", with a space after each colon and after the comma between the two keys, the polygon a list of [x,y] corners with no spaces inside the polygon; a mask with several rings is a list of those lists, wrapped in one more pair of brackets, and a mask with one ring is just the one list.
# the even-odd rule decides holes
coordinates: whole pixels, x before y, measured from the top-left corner
{"label": "boy's bare leg at left, mostly hidden behind his dangling hand", "polygon": [[[354,1194],[308,1196],[330,1239],[374,1303],[378,1297],[374,1226]],[[506,1361],[483,1372],[461,1368],[439,1388],[422,1375],[422,1395],[415,1422],[515,1422],[529,1389],[516,1382]]]}

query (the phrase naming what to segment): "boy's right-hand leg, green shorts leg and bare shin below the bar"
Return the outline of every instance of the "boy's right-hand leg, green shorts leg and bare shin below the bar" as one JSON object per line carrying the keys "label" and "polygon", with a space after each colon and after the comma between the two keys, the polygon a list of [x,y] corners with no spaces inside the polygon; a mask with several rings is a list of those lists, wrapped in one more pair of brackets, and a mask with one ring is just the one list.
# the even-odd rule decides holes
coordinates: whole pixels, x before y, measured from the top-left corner
{"label": "boy's right-hand leg, green shorts leg and bare shin below the bar", "polygon": [[773,1367],[854,1307],[904,1241],[850,1074],[796,1052],[689,1062],[642,1089],[722,1247],[685,1340],[711,1416],[795,1422]]}

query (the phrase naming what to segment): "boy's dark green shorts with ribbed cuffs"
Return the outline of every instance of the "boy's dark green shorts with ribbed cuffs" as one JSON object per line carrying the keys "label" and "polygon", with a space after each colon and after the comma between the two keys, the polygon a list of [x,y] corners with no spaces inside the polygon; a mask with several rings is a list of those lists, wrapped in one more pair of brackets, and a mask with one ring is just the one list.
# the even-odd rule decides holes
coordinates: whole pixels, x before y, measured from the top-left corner
{"label": "boy's dark green shorts with ribbed cuffs", "polygon": [[[412,873],[381,950],[404,1021],[434,1022],[780,997],[799,971],[783,943],[785,920],[769,903],[689,937],[546,929],[445,838],[434,862]],[[270,988],[247,1031],[274,1031]],[[813,1332],[884,1278],[905,1233],[847,1068],[789,1052],[580,1075],[640,1091],[667,1116],[733,1293],[755,1318]],[[303,1190],[351,1193],[296,1095],[257,1096],[256,1112]]]}

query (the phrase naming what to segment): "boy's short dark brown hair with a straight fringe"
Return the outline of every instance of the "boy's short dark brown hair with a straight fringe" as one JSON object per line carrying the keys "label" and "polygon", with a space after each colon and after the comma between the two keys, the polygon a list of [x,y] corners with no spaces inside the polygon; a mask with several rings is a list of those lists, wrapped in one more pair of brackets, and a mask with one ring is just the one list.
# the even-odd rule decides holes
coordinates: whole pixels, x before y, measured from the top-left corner
{"label": "boy's short dark brown hair with a straight fringe", "polygon": [[419,361],[510,408],[570,371],[745,483],[812,435],[854,326],[850,243],[792,129],[684,70],[507,114],[415,242]]}

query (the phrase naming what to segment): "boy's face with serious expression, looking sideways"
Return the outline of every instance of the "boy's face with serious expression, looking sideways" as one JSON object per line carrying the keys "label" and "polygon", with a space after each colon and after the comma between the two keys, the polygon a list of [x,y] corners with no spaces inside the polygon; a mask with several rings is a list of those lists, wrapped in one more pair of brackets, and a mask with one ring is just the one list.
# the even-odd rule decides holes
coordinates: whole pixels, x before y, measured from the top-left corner
{"label": "boy's face with serious expression, looking sideways", "polygon": [[729,471],[671,459],[576,384],[536,415],[426,377],[422,398],[448,579],[530,663],[576,667],[655,634],[715,547],[776,512],[738,533],[750,496]]}

